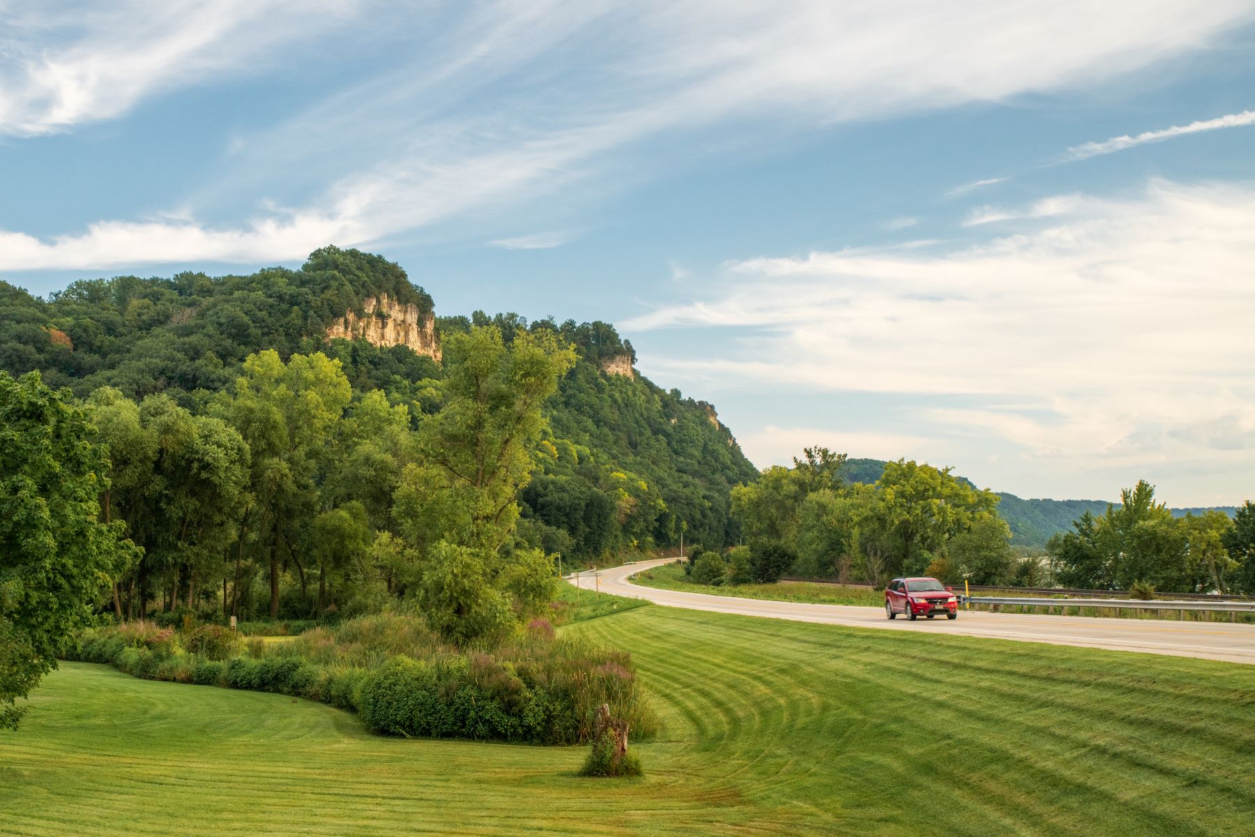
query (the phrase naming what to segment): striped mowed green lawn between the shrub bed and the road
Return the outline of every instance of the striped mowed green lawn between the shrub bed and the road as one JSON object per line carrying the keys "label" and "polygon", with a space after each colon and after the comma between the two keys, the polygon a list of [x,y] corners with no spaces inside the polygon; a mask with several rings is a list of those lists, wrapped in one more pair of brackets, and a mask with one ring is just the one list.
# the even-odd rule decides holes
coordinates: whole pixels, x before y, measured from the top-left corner
{"label": "striped mowed green lawn between the shrub bed and the road", "polygon": [[68,664],[0,734],[0,833],[1255,831],[1255,666],[660,606],[567,630],[634,653],[644,779]]}

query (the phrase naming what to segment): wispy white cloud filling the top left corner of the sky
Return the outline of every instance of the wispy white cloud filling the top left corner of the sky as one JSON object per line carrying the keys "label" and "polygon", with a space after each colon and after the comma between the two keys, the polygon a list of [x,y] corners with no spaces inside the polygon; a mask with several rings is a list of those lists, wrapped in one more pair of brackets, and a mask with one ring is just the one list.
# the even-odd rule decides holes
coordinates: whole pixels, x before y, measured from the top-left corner
{"label": "wispy white cloud filling the top left corner of the sky", "polygon": [[118,117],[146,97],[264,63],[350,0],[129,0],[4,9],[0,133],[38,136]]}

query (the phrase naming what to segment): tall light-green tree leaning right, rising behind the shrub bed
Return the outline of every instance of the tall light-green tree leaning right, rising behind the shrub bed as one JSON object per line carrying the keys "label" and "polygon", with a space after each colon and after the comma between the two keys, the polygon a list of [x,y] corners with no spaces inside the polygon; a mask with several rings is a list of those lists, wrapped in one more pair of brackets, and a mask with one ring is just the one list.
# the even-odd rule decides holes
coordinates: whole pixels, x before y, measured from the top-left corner
{"label": "tall light-green tree leaning right, rising behind the shrub bed", "polygon": [[402,535],[422,556],[424,614],[447,637],[471,642],[552,596],[547,556],[513,536],[541,407],[575,353],[550,330],[520,331],[507,346],[484,325],[451,338],[444,358],[444,407],[423,422],[420,463],[403,473],[395,502]]}

